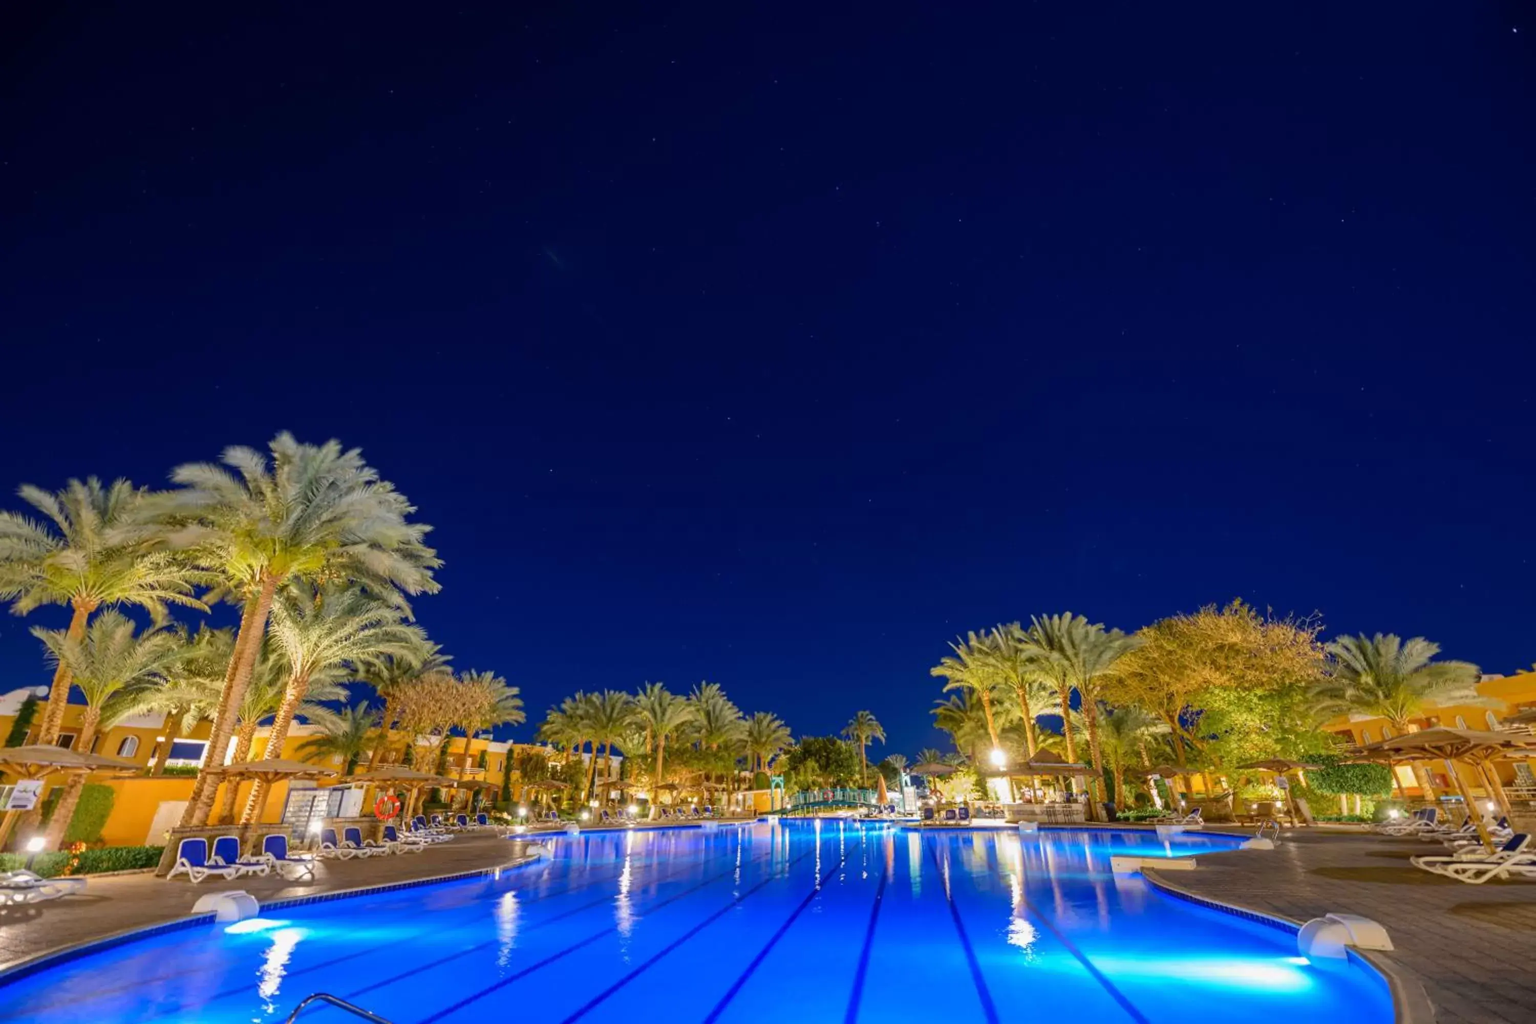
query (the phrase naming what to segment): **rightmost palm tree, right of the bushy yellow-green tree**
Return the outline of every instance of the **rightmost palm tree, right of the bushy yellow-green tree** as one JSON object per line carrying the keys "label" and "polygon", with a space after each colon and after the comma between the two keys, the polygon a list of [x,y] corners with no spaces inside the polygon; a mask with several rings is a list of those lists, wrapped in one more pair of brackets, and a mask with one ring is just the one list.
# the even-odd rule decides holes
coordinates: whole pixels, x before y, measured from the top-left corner
{"label": "rightmost palm tree, right of the bushy yellow-green tree", "polygon": [[[1322,718],[1367,714],[1385,718],[1393,731],[1404,734],[1413,718],[1435,705],[1493,703],[1478,694],[1482,669],[1471,662],[1433,660],[1439,645],[1424,637],[1344,636],[1324,649],[1333,656],[1332,674],[1312,689]],[[1415,772],[1419,786],[1433,797],[1428,772],[1422,766],[1415,766]]]}

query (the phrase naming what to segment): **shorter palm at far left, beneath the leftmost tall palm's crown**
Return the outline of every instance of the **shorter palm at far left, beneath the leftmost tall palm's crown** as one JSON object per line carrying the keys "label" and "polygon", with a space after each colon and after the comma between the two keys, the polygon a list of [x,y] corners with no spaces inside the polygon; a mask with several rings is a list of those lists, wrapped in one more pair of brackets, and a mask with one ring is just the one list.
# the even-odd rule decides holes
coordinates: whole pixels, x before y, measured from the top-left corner
{"label": "shorter palm at far left, beneath the leftmost tall palm's crown", "polygon": [[[32,636],[48,648],[51,662],[69,666],[74,685],[86,699],[80,717],[75,749],[89,754],[97,732],[111,729],[137,709],[144,689],[163,685],[187,654],[186,639],[175,629],[152,626],[135,633],[134,622],[117,611],[104,611],[86,626],[86,636],[75,639],[68,629],[32,629]],[[57,849],[75,814],[84,774],[75,774],[54,808],[45,844]]]}

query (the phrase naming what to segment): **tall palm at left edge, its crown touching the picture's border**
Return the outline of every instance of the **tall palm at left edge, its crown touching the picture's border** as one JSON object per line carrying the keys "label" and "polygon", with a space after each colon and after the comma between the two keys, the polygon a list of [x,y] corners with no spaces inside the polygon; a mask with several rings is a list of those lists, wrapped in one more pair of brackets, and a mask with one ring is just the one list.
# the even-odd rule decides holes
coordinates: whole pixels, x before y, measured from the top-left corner
{"label": "tall palm at left edge, its crown touching the picture's border", "polygon": [[[0,600],[25,616],[43,605],[66,605],[65,636],[80,642],[98,608],[131,605],[166,620],[166,605],[207,611],[194,588],[207,574],[184,559],[149,551],[155,531],[141,522],[146,491],[127,481],[103,487],[97,477],[69,481],[57,494],[22,487],[22,500],[43,520],[0,511]],[[54,743],[69,703],[69,665],[58,662],[38,743]]]}

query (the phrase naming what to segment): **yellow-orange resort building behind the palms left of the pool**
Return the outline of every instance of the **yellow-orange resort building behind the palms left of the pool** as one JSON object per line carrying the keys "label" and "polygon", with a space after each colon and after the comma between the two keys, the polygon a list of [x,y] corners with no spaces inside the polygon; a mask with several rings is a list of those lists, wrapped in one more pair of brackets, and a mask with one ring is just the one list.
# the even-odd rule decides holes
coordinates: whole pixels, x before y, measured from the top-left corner
{"label": "yellow-orange resort building behind the palms left of the pool", "polygon": [[[28,695],[46,697],[46,692],[48,688],[43,686],[0,694],[0,738],[12,732],[12,726]],[[83,711],[84,706],[81,705],[69,705],[65,711],[65,725],[58,740],[60,746],[74,749],[75,738],[80,734],[78,723]],[[28,735],[11,745],[22,746],[35,742],[40,718],[41,705],[37,706],[37,718],[31,723]],[[167,729],[167,718],[158,714],[137,715],[124,718],[97,735],[92,745],[94,749],[89,752],[131,761],[141,769],[135,775],[126,772],[94,772],[88,778],[89,783],[98,783],[112,791],[112,808],[106,824],[101,827],[100,840],[97,840],[101,844],[161,846],[166,832],[181,820],[181,812],[186,809],[187,798],[192,794],[194,777],[207,757],[207,738],[212,725],[206,720],[200,722],[187,735],[175,735]],[[300,748],[304,740],[316,732],[315,726],[295,722],[283,743],[281,757],[304,760]],[[250,757],[264,755],[267,735],[269,729],[266,726],[257,731],[255,740],[250,745]],[[418,748],[429,746],[429,740],[418,737],[416,745]],[[232,760],[232,754],[233,743],[230,743],[230,751],[224,755],[226,763]],[[493,786],[495,789],[485,791],[487,803],[507,798],[522,800],[521,772],[513,769],[508,777],[507,763],[510,760],[516,765],[518,758],[525,754],[553,755],[554,751],[541,745],[504,743],[493,740],[488,734],[481,734],[470,738],[468,751],[465,752],[464,737],[452,737],[447,743],[447,755],[441,765],[441,772],[453,778],[478,780]],[[587,754],[584,760],[590,757]],[[396,746],[384,758],[384,763],[398,761],[401,752]],[[617,780],[622,763],[624,758],[614,754],[607,778]],[[367,760],[364,758],[362,766],[366,765]],[[599,781],[607,780],[602,778],[602,765],[604,760],[599,757]],[[344,769],[339,755],[329,758],[329,763],[323,766],[338,772]],[[438,766],[424,768],[424,771],[436,769]],[[43,788],[45,795],[55,786],[61,786],[63,781],[63,775],[49,777]],[[505,785],[510,785],[508,794],[501,792]],[[9,789],[8,785],[0,785],[0,806],[3,806],[5,798],[9,795]],[[238,785],[232,801],[232,806],[237,809],[235,814],[244,808],[249,789],[249,781]],[[326,780],[319,783],[306,780],[280,781],[267,792],[266,806],[257,820],[266,823],[298,823],[315,817],[341,818],[367,814],[369,811],[361,808],[362,795],[362,786],[330,785]],[[229,803],[227,794],[221,792],[214,801],[215,815],[221,804],[226,803]]]}

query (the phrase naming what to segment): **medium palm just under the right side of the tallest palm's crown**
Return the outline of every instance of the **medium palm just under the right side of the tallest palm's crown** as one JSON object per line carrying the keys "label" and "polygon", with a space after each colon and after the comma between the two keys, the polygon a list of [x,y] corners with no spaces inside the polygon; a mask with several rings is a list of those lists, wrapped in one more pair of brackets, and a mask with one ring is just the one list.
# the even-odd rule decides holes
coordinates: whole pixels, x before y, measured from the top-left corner
{"label": "medium palm just under the right side of the tallest palm's crown", "polygon": [[[263,754],[267,761],[283,757],[293,714],[316,676],[339,682],[379,656],[409,656],[427,640],[419,628],[401,622],[399,608],[362,590],[341,583],[312,588],[301,580],[283,588],[273,600],[270,633],[276,652],[287,660],[289,679],[267,731]],[[257,820],[269,788],[264,778],[250,788],[241,824]]]}

